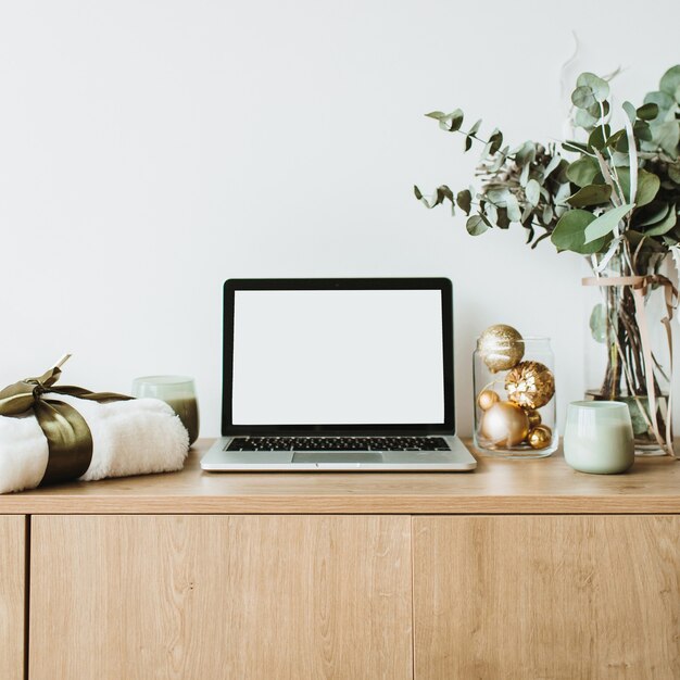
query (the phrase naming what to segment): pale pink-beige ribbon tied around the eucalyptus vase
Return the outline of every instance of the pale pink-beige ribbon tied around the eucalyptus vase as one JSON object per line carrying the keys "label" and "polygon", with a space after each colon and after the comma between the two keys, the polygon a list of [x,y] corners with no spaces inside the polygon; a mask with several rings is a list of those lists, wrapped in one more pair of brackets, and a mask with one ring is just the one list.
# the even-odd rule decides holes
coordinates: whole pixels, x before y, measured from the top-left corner
{"label": "pale pink-beige ribbon tied around the eucalyptus vase", "polygon": [[[672,320],[673,310],[678,306],[678,289],[672,282],[660,275],[648,276],[591,276],[582,280],[583,286],[630,286],[635,303],[635,320],[640,329],[640,341],[642,342],[642,355],[644,360],[644,374],[647,389],[647,406],[650,408],[648,425],[654,433],[656,442],[668,455],[676,456],[672,436],[671,436],[671,418],[672,418],[672,337],[670,322]],[[666,328],[666,338],[668,340],[668,355],[670,363],[670,375],[668,381],[668,405],[666,413],[666,431],[662,435],[656,419],[656,392],[654,390],[654,357],[652,356],[652,347],[650,342],[650,326],[644,299],[650,286],[663,286],[666,302],[666,316],[662,319],[662,324]],[[637,398],[635,394],[633,396]],[[642,406],[640,412],[645,415]],[[646,419],[646,418],[645,418]]]}

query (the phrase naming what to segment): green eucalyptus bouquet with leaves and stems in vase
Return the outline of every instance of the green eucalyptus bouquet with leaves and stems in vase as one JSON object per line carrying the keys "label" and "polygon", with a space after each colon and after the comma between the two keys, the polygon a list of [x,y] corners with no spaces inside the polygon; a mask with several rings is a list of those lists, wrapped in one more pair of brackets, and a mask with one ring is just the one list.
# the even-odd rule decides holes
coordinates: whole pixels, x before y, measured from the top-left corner
{"label": "green eucalyptus bouquet with leaves and stems in vase", "polygon": [[635,433],[671,453],[670,403],[660,387],[670,381],[650,348],[644,303],[664,289],[670,333],[677,291],[659,267],[668,254],[680,264],[680,65],[640,106],[626,101],[615,111],[607,79],[592,73],[578,77],[571,103],[575,139],[516,148],[498,128],[480,137],[481,121],[465,130],[459,109],[426,114],[463,135],[464,151],[483,144],[480,187],[442,185],[430,197],[414,187],[415,196],[427,207],[463,211],[473,236],[515,223],[532,249],[550,239],[558,252],[589,257],[594,277],[584,282],[603,291],[591,328],[608,357],[590,395],[627,401]]}

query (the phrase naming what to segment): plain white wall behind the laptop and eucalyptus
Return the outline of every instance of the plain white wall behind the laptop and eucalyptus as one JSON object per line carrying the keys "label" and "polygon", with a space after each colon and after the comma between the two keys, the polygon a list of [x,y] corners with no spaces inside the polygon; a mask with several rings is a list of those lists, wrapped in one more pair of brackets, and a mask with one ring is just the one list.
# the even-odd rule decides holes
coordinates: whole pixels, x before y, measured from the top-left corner
{"label": "plain white wall behind the laptop and eucalyptus", "polygon": [[614,0],[0,8],[2,385],[64,351],[65,381],[92,389],[189,374],[213,436],[224,279],[443,275],[463,432],[492,323],[551,336],[559,411],[581,396],[581,263],[425,211],[412,185],[465,187],[477,154],[423,113],[557,138],[571,30],[569,76],[620,65],[615,88],[637,100],[678,62],[677,2],[652,24]]}

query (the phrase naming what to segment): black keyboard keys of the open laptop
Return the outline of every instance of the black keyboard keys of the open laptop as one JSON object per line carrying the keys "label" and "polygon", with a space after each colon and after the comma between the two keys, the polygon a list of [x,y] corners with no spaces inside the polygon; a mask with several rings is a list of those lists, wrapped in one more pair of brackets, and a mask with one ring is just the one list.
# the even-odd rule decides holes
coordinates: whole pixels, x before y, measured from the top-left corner
{"label": "black keyboard keys of the open laptop", "polygon": [[451,451],[442,437],[236,437],[227,451]]}

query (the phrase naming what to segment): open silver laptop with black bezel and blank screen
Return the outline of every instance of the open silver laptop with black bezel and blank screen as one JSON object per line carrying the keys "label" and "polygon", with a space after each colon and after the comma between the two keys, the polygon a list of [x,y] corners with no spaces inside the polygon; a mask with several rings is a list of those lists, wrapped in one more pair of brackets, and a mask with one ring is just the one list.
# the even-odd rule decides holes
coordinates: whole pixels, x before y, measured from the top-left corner
{"label": "open silver laptop with black bezel and blank screen", "polygon": [[230,279],[212,471],[456,471],[445,278]]}

